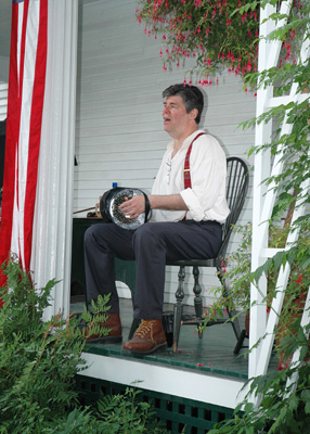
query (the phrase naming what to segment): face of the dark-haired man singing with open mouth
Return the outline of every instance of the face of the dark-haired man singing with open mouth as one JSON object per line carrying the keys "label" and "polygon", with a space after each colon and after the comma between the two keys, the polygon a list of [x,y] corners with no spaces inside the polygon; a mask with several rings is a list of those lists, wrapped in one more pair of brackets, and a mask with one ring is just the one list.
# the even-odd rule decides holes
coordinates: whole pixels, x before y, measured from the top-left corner
{"label": "face of the dark-haired man singing with open mouth", "polygon": [[186,113],[186,107],[182,97],[167,97],[164,102],[163,111],[165,131],[167,131],[172,138],[179,138],[182,136],[193,120],[192,112]]}

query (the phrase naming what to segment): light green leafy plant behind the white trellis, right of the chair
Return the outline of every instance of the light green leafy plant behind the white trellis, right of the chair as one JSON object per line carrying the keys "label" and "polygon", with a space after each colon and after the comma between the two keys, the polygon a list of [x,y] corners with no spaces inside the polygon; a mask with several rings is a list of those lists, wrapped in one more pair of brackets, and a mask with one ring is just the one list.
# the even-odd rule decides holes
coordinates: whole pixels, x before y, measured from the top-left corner
{"label": "light green leafy plant behind the white trellis, right of the chair", "polygon": [[[307,289],[310,285],[310,221],[301,220],[298,228],[300,234],[296,242],[290,244],[290,248],[276,253],[269,258],[261,267],[254,272],[250,271],[251,255],[251,225],[236,226],[234,231],[242,235],[237,248],[227,258],[227,268],[223,278],[229,288],[229,295],[223,293],[219,286],[214,290],[216,301],[206,314],[205,323],[216,319],[217,315],[223,317],[223,311],[236,310],[236,317],[248,314],[250,308],[250,283],[257,283],[261,275],[268,278],[267,306],[271,308],[272,299],[277,293],[277,277],[281,267],[285,264],[290,266],[290,275],[287,283],[286,295],[280,317],[276,333],[277,341],[287,336],[288,342],[296,340],[296,327],[300,322],[300,315],[303,309]],[[273,224],[269,232],[269,246],[284,248],[287,245],[289,227]],[[279,354],[283,353],[283,345],[279,346]],[[282,358],[282,357],[281,357]]]}

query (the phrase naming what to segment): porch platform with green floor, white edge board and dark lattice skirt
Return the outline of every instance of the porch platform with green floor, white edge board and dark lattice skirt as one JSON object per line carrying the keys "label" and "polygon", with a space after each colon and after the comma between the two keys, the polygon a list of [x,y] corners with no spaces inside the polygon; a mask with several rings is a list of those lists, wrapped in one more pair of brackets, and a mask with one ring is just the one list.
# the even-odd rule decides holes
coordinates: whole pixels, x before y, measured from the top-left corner
{"label": "porch platform with green floor, white edge board and dark lattice skirt", "polygon": [[[72,297],[70,311],[81,312],[83,301]],[[120,299],[122,336],[127,340],[131,320],[131,299]],[[171,311],[165,305],[165,311]],[[185,306],[185,312],[192,307]],[[243,319],[241,319],[241,324]],[[247,345],[248,340],[245,340]],[[247,348],[238,355],[230,323],[208,327],[203,339],[195,327],[181,328],[179,348],[172,353],[150,356],[122,354],[121,344],[91,344],[83,358],[88,368],[77,379],[77,387],[85,404],[98,399],[100,392],[118,393],[126,386],[142,390],[142,399],[152,399],[157,417],[173,433],[206,433],[217,421],[231,416],[245,392],[241,391],[247,380]],[[271,357],[270,369],[276,369]]]}

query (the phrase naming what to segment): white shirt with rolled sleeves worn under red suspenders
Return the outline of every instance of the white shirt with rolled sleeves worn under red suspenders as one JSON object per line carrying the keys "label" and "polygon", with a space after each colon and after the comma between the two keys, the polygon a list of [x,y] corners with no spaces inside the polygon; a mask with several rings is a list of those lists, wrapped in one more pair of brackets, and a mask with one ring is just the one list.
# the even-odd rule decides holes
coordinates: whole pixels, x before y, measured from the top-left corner
{"label": "white shirt with rolled sleeves worn under red suspenders", "polygon": [[196,139],[190,156],[192,188],[184,189],[184,159],[190,144],[202,130],[189,136],[171,158],[173,141],[163,157],[152,194],[181,194],[189,210],[153,209],[152,221],[179,221],[184,218],[216,220],[223,224],[229,215],[225,200],[227,158],[219,142],[209,135]]}

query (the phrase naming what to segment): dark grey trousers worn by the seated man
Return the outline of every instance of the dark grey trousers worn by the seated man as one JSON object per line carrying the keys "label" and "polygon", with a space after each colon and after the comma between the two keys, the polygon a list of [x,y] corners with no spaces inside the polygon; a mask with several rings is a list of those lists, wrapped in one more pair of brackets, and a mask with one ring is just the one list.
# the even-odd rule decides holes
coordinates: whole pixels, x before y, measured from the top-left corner
{"label": "dark grey trousers worn by the seated man", "polygon": [[111,293],[111,312],[119,311],[114,257],[137,261],[133,317],[160,319],[166,260],[211,258],[221,244],[221,225],[182,220],[147,222],[137,230],[114,224],[93,225],[85,234],[87,305]]}

